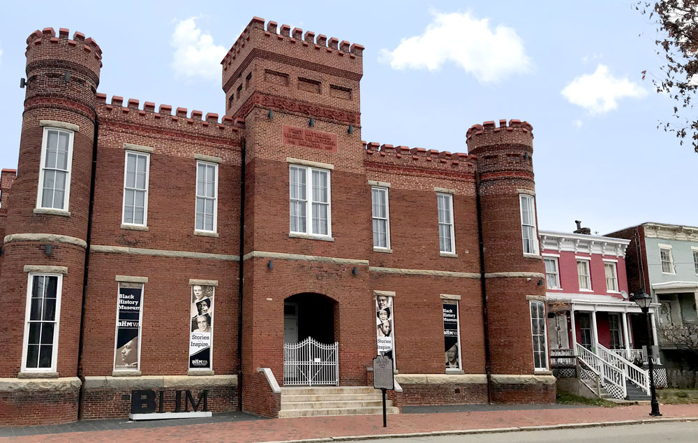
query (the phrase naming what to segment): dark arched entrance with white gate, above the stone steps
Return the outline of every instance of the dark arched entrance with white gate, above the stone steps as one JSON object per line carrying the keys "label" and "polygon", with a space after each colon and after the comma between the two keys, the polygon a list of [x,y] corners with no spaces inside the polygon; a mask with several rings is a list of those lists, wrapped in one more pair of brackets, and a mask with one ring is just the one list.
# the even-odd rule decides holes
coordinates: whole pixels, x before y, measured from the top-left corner
{"label": "dark arched entrance with white gate, above the stone steps", "polygon": [[338,305],[317,293],[283,303],[283,384],[339,385],[335,316]]}

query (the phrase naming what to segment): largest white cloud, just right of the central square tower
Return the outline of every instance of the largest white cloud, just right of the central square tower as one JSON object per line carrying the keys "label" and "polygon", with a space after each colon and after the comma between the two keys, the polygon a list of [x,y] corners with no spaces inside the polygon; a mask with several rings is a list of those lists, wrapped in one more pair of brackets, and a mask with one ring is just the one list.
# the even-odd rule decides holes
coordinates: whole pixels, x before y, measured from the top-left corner
{"label": "largest white cloud, just right of the central square tower", "polygon": [[392,51],[381,50],[383,61],[393,69],[429,71],[451,61],[482,83],[531,70],[533,64],[514,29],[503,24],[493,28],[489,19],[467,12],[432,15],[422,35],[403,38]]}

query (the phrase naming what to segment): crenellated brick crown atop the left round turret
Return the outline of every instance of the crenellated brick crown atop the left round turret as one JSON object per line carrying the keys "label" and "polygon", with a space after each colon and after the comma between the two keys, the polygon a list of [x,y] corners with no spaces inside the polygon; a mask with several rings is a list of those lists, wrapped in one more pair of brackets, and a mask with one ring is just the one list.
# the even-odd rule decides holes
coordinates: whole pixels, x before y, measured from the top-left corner
{"label": "crenellated brick crown atop the left round turret", "polygon": [[[27,66],[34,61],[61,59],[85,64],[99,77],[99,69],[102,67],[102,50],[92,38],[85,38],[82,32],[75,31],[73,38],[69,38],[70,31],[60,28],[58,36],[53,28],[38,29],[27,37]],[[63,48],[61,52],[55,48]]]}

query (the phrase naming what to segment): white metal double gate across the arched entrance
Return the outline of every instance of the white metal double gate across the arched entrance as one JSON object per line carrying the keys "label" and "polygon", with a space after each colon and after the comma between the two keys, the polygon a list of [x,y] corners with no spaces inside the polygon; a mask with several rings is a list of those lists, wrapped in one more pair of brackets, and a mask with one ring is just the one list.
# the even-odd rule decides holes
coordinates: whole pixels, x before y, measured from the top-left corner
{"label": "white metal double gate across the arched entrance", "polygon": [[322,344],[308,337],[283,344],[283,385],[329,384],[339,386],[337,342]]}

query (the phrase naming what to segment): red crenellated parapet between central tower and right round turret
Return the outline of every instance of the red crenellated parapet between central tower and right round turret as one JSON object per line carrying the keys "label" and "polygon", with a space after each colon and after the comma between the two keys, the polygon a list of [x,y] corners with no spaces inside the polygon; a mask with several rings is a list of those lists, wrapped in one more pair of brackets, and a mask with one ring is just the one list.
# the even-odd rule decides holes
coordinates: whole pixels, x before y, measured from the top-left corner
{"label": "red crenellated parapet between central tower and right round turret", "polygon": [[477,156],[439,150],[427,150],[424,147],[393,146],[376,142],[366,143],[366,159],[369,161],[387,161],[391,164],[404,164],[417,168],[438,168],[474,173]]}

